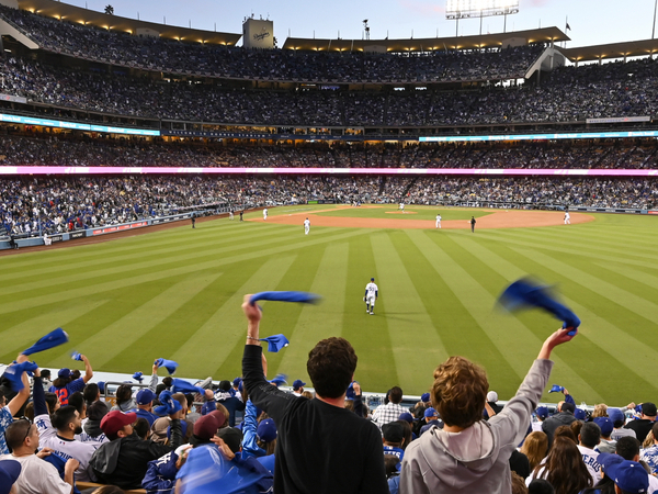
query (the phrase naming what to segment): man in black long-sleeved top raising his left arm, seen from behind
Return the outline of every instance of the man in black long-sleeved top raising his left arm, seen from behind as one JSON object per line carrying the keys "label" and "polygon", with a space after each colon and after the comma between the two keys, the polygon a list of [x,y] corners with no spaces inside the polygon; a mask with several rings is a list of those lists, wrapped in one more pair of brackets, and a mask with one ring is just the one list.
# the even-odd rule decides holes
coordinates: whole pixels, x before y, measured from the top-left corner
{"label": "man in black long-sleeved top raising his left arm, seen from behind", "polygon": [[246,295],[242,304],[248,319],[242,375],[253,404],[276,423],[274,492],[388,492],[377,426],[344,408],[358,360],[350,343],[327,338],[310,350],[306,369],[316,391],[314,400],[280,391],[264,375],[259,340],[262,313],[250,297]]}

